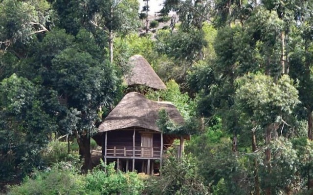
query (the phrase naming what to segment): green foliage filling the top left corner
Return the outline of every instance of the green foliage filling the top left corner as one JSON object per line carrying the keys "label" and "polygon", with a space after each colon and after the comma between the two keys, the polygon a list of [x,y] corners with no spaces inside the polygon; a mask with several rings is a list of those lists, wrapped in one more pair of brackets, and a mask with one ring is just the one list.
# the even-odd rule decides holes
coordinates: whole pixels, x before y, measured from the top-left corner
{"label": "green foliage filling the top left corner", "polygon": [[0,49],[15,42],[27,43],[36,31],[42,30],[39,24],[48,21],[49,3],[45,0],[0,2]]}

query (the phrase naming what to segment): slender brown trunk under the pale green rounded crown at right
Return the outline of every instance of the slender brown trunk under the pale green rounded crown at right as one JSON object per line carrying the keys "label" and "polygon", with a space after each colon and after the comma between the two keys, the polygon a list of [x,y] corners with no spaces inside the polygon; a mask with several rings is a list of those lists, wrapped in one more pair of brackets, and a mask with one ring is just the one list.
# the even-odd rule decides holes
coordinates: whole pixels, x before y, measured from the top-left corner
{"label": "slender brown trunk under the pale green rounded crown at right", "polygon": [[[266,129],[266,137],[265,137],[265,142],[267,145],[267,149],[265,151],[265,165],[268,167],[268,174],[271,173],[271,165],[270,165],[270,159],[271,159],[271,154],[270,154],[270,140],[271,140],[271,126],[272,125],[268,125],[267,129]],[[265,189],[265,194],[266,195],[271,195],[271,186],[270,186],[270,178],[267,177],[267,187]]]}

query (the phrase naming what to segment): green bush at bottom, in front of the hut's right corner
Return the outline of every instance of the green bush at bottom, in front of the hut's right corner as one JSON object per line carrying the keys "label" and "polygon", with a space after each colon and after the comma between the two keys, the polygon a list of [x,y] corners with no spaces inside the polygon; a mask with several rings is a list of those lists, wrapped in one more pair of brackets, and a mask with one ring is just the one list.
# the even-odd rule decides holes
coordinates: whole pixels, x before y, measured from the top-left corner
{"label": "green bush at bottom, in front of the hut's right corner", "polygon": [[160,178],[146,183],[148,195],[208,195],[196,159],[190,155],[164,160]]}

